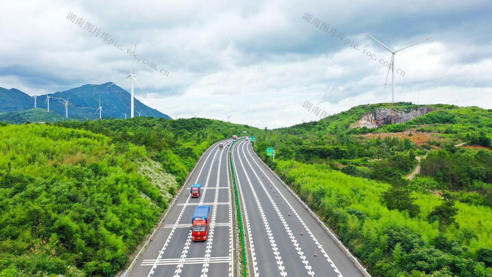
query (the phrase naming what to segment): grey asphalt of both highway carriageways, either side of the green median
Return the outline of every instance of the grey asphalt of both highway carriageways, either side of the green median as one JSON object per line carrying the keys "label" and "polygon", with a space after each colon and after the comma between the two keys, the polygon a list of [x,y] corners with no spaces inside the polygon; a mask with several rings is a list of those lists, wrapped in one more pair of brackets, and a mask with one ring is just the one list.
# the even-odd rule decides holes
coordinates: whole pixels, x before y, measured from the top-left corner
{"label": "grey asphalt of both highway carriageways, either side of the green median", "polygon": [[[365,276],[263,165],[248,140],[237,141],[231,151],[245,225],[248,276]],[[201,157],[152,242],[126,276],[238,275],[228,153],[229,147],[219,149],[217,143]],[[202,191],[199,198],[191,198],[190,186],[196,183],[202,184]],[[197,205],[211,208],[210,234],[204,242],[191,241],[191,217]]]}

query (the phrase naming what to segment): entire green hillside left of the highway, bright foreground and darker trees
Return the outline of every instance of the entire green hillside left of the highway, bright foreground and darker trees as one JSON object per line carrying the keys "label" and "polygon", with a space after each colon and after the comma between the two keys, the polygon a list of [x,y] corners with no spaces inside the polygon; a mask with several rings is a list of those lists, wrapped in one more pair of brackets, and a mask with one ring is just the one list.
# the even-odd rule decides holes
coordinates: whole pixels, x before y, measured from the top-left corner
{"label": "entire green hillside left of the highway, bright foreground and darker trees", "polygon": [[114,276],[200,155],[247,125],[0,123],[0,276]]}

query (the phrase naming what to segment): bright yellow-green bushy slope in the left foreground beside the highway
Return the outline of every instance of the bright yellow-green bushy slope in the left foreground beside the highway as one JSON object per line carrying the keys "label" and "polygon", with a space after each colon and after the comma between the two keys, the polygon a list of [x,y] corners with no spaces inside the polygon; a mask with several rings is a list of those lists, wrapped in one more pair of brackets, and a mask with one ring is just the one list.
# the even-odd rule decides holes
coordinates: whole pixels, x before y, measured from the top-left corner
{"label": "bright yellow-green bushy slope in the left foreground beside the highway", "polygon": [[115,274],[167,207],[142,146],[24,124],[0,126],[0,152],[1,276]]}

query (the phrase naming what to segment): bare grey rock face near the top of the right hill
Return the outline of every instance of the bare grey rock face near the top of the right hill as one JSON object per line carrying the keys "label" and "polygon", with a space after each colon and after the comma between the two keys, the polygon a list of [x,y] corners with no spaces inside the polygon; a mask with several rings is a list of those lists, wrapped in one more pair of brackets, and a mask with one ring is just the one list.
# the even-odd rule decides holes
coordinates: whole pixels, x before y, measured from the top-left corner
{"label": "bare grey rock face near the top of the right hill", "polygon": [[377,128],[386,124],[403,123],[416,117],[423,116],[437,109],[431,107],[421,107],[417,110],[391,110],[386,108],[376,109],[372,113],[363,114],[359,119],[358,125],[353,127]]}

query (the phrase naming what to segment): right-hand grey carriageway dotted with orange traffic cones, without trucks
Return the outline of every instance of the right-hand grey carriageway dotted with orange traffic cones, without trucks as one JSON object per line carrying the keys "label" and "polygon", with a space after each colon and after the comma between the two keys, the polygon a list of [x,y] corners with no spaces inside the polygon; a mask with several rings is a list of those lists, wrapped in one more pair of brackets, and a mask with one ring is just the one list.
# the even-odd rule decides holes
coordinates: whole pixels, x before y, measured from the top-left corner
{"label": "right-hand grey carriageway dotted with orange traffic cones, without trucks", "polygon": [[249,141],[236,143],[233,164],[247,222],[249,276],[365,276],[263,165]]}

